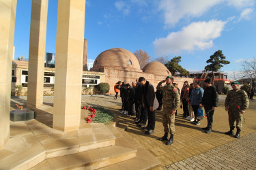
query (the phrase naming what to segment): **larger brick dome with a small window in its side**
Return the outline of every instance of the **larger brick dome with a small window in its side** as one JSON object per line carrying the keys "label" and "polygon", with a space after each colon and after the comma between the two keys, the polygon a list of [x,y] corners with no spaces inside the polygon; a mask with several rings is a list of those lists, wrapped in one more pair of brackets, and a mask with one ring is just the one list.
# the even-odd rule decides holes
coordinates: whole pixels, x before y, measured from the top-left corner
{"label": "larger brick dome with a small window in its side", "polygon": [[111,48],[100,53],[95,59],[91,71],[104,67],[142,72],[137,57],[132,52],[123,48]]}

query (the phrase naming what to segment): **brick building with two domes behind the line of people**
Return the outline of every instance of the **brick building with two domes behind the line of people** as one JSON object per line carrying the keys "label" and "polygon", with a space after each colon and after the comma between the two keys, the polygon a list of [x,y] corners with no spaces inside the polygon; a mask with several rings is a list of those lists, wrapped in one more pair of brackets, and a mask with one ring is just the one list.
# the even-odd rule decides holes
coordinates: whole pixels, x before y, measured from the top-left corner
{"label": "brick building with two domes behind the line of people", "polygon": [[[167,67],[158,61],[148,63],[141,70],[137,57],[132,52],[123,48],[111,48],[101,52],[95,59],[90,71],[102,72],[104,74],[104,82],[111,86],[109,94],[115,94],[113,86],[116,82],[122,81],[132,84],[139,77],[144,77],[153,84],[156,90],[158,82],[165,80],[167,75],[171,75]],[[174,79],[180,87],[182,87],[185,80],[188,80],[189,83],[193,82],[191,78],[175,77]]]}

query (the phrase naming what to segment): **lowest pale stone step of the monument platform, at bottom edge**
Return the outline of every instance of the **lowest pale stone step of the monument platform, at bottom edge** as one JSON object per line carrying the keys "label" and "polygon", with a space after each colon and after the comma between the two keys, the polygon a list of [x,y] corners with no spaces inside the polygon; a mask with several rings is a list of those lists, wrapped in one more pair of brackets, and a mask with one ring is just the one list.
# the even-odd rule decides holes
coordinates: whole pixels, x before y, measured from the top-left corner
{"label": "lowest pale stone step of the monument platform, at bottom edge", "polygon": [[77,154],[49,158],[32,169],[100,169],[135,158],[137,150],[109,146]]}

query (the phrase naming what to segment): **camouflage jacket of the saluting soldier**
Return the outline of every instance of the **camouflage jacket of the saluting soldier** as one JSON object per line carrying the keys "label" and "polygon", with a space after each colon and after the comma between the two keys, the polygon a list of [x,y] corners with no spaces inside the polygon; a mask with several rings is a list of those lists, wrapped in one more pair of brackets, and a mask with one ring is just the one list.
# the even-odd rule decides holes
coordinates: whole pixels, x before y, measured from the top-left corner
{"label": "camouflage jacket of the saluting soldier", "polygon": [[162,106],[176,110],[180,104],[180,95],[177,88],[171,84],[162,86],[162,82],[159,82],[156,89],[162,91]]}

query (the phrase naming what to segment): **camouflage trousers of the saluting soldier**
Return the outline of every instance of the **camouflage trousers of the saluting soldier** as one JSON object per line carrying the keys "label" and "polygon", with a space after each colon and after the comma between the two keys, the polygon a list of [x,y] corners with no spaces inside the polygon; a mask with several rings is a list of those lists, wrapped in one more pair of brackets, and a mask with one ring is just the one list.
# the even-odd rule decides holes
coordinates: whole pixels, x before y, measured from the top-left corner
{"label": "camouflage trousers of the saluting soldier", "polygon": [[175,114],[171,116],[171,109],[163,107],[162,109],[162,125],[164,126],[165,133],[175,134]]}

